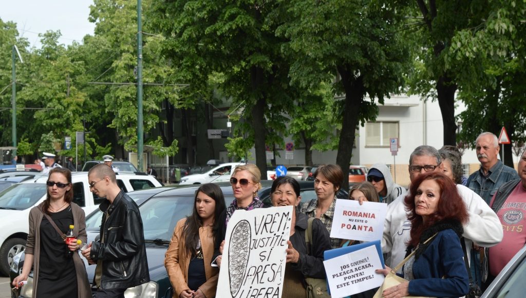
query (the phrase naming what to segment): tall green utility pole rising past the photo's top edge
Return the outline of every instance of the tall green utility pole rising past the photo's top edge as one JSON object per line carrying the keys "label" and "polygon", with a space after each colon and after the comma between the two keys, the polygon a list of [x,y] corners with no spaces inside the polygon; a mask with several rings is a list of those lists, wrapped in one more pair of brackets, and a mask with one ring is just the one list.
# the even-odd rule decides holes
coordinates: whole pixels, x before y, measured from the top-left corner
{"label": "tall green utility pole rising past the photo's top edge", "polygon": [[137,167],[143,171],[143,25],[141,0],[137,0]]}

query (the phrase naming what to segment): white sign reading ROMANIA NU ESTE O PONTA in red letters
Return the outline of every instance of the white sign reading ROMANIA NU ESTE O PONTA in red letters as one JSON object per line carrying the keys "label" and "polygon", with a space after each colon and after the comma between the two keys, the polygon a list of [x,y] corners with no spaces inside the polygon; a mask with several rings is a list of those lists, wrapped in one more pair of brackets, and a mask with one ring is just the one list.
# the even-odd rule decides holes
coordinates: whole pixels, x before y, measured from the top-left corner
{"label": "white sign reading ROMANIA NU ESTE O PONTA in red letters", "polygon": [[331,238],[359,241],[382,239],[383,222],[386,219],[387,204],[355,200],[336,200],[332,218]]}

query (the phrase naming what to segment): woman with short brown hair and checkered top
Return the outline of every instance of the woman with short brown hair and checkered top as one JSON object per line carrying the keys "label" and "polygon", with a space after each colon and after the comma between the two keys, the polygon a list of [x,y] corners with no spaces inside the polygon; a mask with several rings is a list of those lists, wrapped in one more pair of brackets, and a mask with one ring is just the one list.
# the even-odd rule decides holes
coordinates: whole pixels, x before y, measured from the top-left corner
{"label": "woman with short brown hair and checkered top", "polygon": [[[340,166],[335,164],[319,166],[314,172],[314,189],[317,198],[310,200],[301,208],[301,212],[307,216],[319,218],[329,234],[336,206],[336,193],[340,190],[342,182],[343,171]],[[331,247],[337,249],[341,241],[339,238],[331,238]]]}

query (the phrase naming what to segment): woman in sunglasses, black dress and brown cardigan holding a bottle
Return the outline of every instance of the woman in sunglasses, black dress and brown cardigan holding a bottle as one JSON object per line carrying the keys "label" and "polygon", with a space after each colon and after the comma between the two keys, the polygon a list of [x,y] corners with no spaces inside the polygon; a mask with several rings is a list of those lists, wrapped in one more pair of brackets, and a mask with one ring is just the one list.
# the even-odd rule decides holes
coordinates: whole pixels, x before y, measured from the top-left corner
{"label": "woman in sunglasses, black dress and brown cardigan holding a bottle", "polygon": [[[91,297],[84,262],[77,252],[77,239],[86,242],[82,208],[73,203],[71,172],[56,167],[49,171],[47,197],[29,213],[29,235],[22,273],[13,280],[18,287],[33,266],[33,297]],[[61,233],[58,233],[53,223]],[[74,225],[75,239],[67,245],[63,237]]]}

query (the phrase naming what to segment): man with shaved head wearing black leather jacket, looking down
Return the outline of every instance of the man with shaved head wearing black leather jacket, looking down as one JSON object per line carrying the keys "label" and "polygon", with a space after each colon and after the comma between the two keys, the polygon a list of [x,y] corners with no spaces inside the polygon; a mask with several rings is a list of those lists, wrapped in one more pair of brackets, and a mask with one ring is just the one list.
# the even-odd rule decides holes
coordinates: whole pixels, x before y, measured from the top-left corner
{"label": "man with shaved head wearing black leather jacket, looking down", "polygon": [[106,197],[99,205],[104,213],[100,239],[82,252],[89,264],[97,264],[94,297],[124,298],[124,291],[150,281],[143,220],[139,207],[119,188],[112,168],[98,164],[88,172],[89,189]]}

